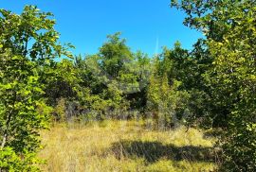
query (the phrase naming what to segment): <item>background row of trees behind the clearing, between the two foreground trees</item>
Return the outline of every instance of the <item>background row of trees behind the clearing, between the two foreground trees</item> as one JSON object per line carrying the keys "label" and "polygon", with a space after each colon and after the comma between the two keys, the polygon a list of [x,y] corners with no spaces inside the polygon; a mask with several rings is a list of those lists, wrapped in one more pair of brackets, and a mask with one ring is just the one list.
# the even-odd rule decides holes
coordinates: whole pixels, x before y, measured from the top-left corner
{"label": "background row of trees behind the clearing, between the two foreground trees", "polygon": [[99,49],[95,55],[55,62],[51,77],[43,79],[47,104],[55,107],[57,121],[164,115],[164,120],[170,121],[166,127],[171,127],[175,114],[181,119],[186,112],[199,113],[192,108],[198,103],[192,94],[202,84],[201,78],[195,77],[200,76],[194,68],[199,60],[180,43],[149,58],[140,51],[132,52],[116,33]]}

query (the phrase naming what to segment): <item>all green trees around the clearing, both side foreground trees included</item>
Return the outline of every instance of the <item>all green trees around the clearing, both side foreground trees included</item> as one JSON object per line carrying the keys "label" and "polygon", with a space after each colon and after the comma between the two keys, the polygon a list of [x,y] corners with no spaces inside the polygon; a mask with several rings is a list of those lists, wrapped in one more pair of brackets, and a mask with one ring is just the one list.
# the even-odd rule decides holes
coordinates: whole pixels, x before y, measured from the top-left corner
{"label": "all green trees around the clearing, both side foreground trees included", "polygon": [[219,129],[219,170],[255,171],[255,2],[172,7],[184,10],[184,24],[205,39],[192,51],[175,43],[155,57],[131,51],[120,33],[98,53],[76,57],[71,44],[59,43],[51,13],[1,9],[0,169],[38,170],[39,130],[51,120],[151,117],[164,128]]}

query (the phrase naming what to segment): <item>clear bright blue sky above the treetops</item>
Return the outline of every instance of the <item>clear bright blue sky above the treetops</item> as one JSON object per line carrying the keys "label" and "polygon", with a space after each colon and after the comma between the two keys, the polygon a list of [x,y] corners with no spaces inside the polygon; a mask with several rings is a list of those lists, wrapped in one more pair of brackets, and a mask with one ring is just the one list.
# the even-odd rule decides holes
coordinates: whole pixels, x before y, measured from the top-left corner
{"label": "clear bright blue sky above the treetops", "polygon": [[50,11],[62,43],[76,46],[74,54],[96,53],[106,35],[120,31],[133,51],[150,56],[179,41],[192,49],[201,33],[182,25],[184,14],[170,0],[0,0],[0,9],[20,13],[25,5]]}

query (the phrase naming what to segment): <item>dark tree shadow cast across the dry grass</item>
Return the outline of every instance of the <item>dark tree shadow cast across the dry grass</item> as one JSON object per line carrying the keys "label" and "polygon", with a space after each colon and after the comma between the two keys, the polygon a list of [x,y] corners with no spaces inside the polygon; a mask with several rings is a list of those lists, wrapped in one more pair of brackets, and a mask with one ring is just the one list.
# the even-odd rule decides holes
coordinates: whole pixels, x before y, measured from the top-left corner
{"label": "dark tree shadow cast across the dry grass", "polygon": [[111,147],[117,159],[144,158],[146,163],[159,159],[189,162],[214,162],[212,147],[162,145],[160,142],[121,141]]}

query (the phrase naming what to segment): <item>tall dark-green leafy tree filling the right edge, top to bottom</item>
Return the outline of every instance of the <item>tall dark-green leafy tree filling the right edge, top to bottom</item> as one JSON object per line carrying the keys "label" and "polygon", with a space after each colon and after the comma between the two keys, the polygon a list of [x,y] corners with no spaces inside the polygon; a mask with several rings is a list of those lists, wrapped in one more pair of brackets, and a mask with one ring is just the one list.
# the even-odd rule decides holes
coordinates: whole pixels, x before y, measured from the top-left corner
{"label": "tall dark-green leafy tree filling the right edge, top to bottom", "polygon": [[222,109],[211,112],[226,123],[221,139],[225,158],[222,169],[255,171],[256,2],[184,0],[172,3],[188,14],[186,25],[202,30],[207,37],[213,60],[204,78],[210,88],[210,101]]}

